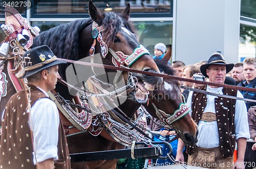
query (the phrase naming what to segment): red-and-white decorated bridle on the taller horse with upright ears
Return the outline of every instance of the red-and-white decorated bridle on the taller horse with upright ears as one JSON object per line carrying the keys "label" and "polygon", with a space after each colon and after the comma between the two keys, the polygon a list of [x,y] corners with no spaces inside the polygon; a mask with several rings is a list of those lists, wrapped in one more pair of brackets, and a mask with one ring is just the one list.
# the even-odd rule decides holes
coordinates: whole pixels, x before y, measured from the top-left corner
{"label": "red-and-white decorated bridle on the taller horse with upright ears", "polygon": [[[93,21],[92,24],[92,37],[94,39],[93,44],[90,49],[90,56],[91,56],[91,63],[94,63],[94,52],[95,52],[95,45],[96,45],[96,39],[100,44],[100,50],[101,50],[101,55],[103,58],[106,57],[106,54],[110,51],[112,54],[112,63],[116,67],[125,67],[129,68],[136,60],[138,60],[142,55],[144,54],[150,54],[148,50],[143,46],[139,45],[137,48],[134,49],[134,52],[130,55],[126,55],[121,51],[114,51],[112,48],[108,47],[105,42],[102,39],[101,32],[104,30],[104,26],[101,25],[99,26],[98,23]],[[91,66],[92,71],[94,72],[94,68]],[[117,73],[114,77],[113,84],[116,85],[118,78],[122,74],[123,71],[117,70]],[[96,75],[96,73],[94,72]]]}

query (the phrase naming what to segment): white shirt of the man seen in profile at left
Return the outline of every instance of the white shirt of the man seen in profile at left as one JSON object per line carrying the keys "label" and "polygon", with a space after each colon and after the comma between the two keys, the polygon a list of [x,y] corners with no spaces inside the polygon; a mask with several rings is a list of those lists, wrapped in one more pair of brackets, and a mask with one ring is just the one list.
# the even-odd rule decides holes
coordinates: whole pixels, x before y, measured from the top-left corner
{"label": "white shirt of the man seen in profile at left", "polygon": [[[49,97],[44,90],[38,89]],[[37,100],[31,107],[30,118],[30,129],[33,132],[36,152],[34,164],[49,158],[58,159],[59,114],[56,104],[48,98]]]}

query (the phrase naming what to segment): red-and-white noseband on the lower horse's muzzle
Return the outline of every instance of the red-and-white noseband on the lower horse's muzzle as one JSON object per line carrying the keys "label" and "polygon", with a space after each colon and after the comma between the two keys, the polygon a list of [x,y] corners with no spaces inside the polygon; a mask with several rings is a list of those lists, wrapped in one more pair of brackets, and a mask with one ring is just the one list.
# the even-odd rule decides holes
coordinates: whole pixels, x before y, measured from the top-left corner
{"label": "red-and-white noseband on the lower horse's muzzle", "polygon": [[164,111],[157,108],[156,104],[152,101],[152,105],[156,110],[157,117],[167,125],[171,125],[174,122],[180,120],[186,116],[189,112],[189,106],[185,103],[180,103],[179,108],[174,111],[173,115],[168,115]]}

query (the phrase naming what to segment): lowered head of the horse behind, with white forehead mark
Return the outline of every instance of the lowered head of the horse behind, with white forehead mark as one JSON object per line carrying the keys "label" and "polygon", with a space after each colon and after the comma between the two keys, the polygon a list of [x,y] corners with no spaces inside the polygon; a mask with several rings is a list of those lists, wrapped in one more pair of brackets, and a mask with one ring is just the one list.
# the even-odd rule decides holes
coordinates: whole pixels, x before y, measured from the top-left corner
{"label": "lowered head of the horse behind, with white forehead mark", "polygon": [[[157,60],[156,63],[161,72],[174,75],[174,69],[166,62]],[[192,146],[197,142],[197,124],[190,117],[189,108],[183,103],[179,81],[164,78],[162,85],[151,92],[150,99],[152,104],[145,107],[149,112],[155,112],[152,116],[166,125],[173,125],[185,144]]]}

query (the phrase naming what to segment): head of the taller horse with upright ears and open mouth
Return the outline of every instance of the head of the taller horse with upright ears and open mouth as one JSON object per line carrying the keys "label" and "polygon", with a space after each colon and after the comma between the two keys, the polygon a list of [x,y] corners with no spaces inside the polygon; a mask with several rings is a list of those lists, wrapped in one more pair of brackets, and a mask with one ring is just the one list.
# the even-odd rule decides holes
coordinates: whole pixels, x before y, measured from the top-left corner
{"label": "head of the taller horse with upright ears and open mouth", "polygon": [[[92,26],[88,26],[81,32],[81,36],[86,37],[83,38],[81,44],[84,44],[84,48],[89,48],[90,55],[94,54],[94,56],[91,56],[94,63],[103,62],[105,65],[159,72],[150,53],[140,45],[133,24],[129,21],[130,4],[126,6],[122,13],[114,13],[101,12],[90,1],[89,12],[92,18]],[[116,70],[106,70],[106,72],[115,72],[116,74]],[[115,75],[108,77],[112,78],[108,80],[116,85],[120,81],[120,77],[123,77],[125,85],[127,85],[129,80],[126,79],[131,77],[131,73],[118,72],[117,74],[122,76]],[[135,80],[135,86],[127,93],[131,94],[132,97],[130,98],[137,102],[145,102],[148,91],[152,91],[155,86],[162,83],[161,77],[138,73],[132,73],[132,77],[130,79],[131,81]]]}

